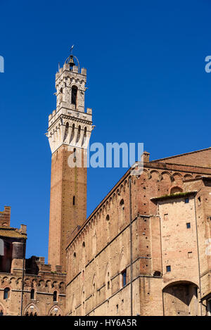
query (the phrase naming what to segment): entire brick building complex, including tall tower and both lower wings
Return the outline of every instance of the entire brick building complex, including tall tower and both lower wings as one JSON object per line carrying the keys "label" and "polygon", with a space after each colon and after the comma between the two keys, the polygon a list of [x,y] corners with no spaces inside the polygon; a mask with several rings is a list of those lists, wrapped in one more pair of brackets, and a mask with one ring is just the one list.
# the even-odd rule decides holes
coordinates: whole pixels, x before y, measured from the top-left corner
{"label": "entire brick building complex, including tall tower and both lower wings", "polygon": [[1,315],[210,315],[211,148],[144,152],[87,218],[86,82],[72,55],[56,73],[48,265],[0,212]]}

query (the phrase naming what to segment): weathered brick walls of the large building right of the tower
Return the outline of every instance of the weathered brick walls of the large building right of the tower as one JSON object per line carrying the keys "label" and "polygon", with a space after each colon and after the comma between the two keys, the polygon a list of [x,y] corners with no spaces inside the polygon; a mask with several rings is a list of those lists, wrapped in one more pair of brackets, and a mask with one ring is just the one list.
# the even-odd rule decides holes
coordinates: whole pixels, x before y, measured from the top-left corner
{"label": "weathered brick walls of the large building right of the tower", "polygon": [[[134,315],[205,314],[197,298],[194,196],[189,197],[189,203],[184,203],[183,197],[159,203],[151,199],[190,191],[184,180],[202,174],[209,175],[211,170],[154,162],[145,163],[140,177],[132,177]],[[191,222],[191,229],[186,228],[186,222]],[[71,239],[67,248],[67,314],[130,315],[129,172]],[[167,273],[169,264],[172,271]],[[122,288],[125,267],[127,286]],[[175,299],[172,292],[176,292]],[[188,304],[184,292],[188,292]]]}

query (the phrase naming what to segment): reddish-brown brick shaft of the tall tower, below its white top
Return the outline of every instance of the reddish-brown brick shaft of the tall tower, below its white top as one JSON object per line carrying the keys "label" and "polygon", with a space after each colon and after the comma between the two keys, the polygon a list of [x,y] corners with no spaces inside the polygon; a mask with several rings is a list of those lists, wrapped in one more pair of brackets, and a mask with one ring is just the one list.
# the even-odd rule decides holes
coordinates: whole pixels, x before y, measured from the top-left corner
{"label": "reddish-brown brick shaft of the tall tower, below its white top", "polygon": [[[87,216],[87,168],[69,167],[68,146],[60,146],[52,155],[51,204],[49,223],[49,264],[66,270],[66,236]],[[73,197],[75,196],[75,205]]]}

